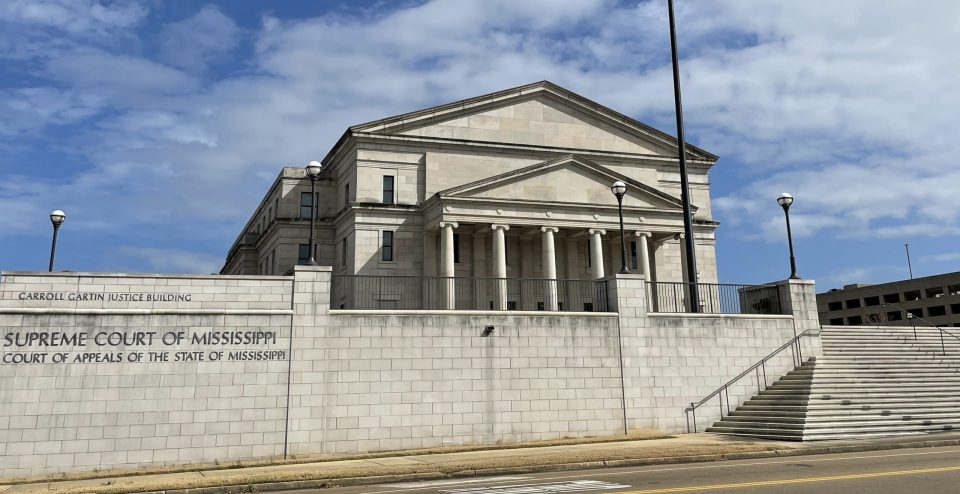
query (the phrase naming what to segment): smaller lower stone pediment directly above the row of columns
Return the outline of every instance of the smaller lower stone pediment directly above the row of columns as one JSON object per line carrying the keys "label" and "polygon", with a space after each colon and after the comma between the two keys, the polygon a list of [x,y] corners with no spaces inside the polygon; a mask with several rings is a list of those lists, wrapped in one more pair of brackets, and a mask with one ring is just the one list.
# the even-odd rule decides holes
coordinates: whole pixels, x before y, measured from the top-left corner
{"label": "smaller lower stone pediment directly above the row of columns", "polygon": [[495,175],[441,191],[441,198],[470,198],[583,205],[616,204],[610,185],[627,184],[625,208],[680,210],[680,200],[576,155]]}

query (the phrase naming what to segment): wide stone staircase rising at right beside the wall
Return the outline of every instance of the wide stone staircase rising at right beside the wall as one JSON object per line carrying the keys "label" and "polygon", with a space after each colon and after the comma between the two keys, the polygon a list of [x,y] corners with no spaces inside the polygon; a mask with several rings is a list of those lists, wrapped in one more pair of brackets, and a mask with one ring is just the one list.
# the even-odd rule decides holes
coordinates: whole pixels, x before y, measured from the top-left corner
{"label": "wide stone staircase rising at right beside the wall", "polygon": [[[952,330],[960,336],[960,329]],[[960,340],[935,328],[825,326],[811,358],[707,432],[789,441],[960,430]]]}

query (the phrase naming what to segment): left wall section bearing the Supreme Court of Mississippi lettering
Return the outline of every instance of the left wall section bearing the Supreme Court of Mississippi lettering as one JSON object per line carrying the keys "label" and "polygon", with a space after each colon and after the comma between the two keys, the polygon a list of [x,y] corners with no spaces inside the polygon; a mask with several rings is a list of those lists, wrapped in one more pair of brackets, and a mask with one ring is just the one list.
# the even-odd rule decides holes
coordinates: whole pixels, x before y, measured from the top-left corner
{"label": "left wall section bearing the Supreme Court of Mississippi lettering", "polygon": [[0,474],[283,454],[292,288],[5,274]]}

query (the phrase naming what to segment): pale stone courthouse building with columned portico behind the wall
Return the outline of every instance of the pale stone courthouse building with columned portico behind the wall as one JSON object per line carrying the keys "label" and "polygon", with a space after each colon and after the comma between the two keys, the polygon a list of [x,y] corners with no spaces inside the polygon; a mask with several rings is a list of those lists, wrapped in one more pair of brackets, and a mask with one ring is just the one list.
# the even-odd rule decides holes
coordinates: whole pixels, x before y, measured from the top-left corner
{"label": "pale stone courthouse building with columned portico behind the wall", "polygon": [[[717,157],[687,153],[699,280],[715,283]],[[676,139],[550,82],[350,127],[321,163],[314,196],[302,166],[281,170],[222,274],[307,263],[316,202],[317,263],[335,292],[356,285],[334,307],[372,290],[365,308],[594,310],[574,285],[621,269],[622,180],[630,271],[686,281]]]}

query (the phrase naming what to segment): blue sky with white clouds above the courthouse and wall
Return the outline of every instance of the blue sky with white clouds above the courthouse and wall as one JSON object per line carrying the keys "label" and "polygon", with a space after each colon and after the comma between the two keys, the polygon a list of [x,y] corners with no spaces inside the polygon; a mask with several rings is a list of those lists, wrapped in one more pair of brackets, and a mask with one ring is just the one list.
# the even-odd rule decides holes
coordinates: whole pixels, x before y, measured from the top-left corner
{"label": "blue sky with white clouds above the courthouse and wall", "polygon": [[[547,79],[673,133],[666,1],[0,2],[0,269],[215,272],[352,124]],[[677,2],[720,277],[960,269],[960,4]]]}

